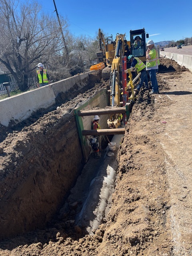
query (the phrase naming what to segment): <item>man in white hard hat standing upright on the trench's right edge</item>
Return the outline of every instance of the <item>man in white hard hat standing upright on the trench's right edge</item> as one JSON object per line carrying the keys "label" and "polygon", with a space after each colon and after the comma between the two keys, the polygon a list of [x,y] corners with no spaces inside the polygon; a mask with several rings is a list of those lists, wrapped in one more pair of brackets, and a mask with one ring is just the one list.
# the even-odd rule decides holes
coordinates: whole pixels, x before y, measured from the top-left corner
{"label": "man in white hard hat standing upright on the trench's right edge", "polygon": [[146,70],[149,72],[150,81],[152,85],[152,91],[149,94],[159,93],[158,82],[156,73],[158,72],[159,56],[156,47],[154,46],[153,40],[148,40],[148,49],[146,51]]}

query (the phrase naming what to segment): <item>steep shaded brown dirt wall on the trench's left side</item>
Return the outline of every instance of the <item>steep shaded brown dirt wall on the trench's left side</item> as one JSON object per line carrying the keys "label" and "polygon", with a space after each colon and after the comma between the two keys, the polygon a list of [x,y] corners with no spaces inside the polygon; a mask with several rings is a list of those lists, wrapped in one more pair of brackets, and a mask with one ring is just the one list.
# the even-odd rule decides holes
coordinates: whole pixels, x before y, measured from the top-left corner
{"label": "steep shaded brown dirt wall on the trench's left side", "polygon": [[[101,108],[106,96],[103,91],[84,98],[80,108]],[[74,109],[67,106],[9,134],[1,143],[0,240],[43,228],[75,184],[84,158]]]}

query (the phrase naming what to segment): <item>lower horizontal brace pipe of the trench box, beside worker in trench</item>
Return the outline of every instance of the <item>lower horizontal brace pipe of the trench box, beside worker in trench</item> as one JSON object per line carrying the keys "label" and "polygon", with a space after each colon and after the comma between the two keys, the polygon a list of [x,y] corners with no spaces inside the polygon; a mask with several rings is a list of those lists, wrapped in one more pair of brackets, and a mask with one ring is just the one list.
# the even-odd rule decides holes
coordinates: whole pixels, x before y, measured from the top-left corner
{"label": "lower horizontal brace pipe of the trench box, beside worker in trench", "polygon": [[125,134],[124,128],[119,129],[98,129],[98,130],[82,130],[82,135],[113,135]]}

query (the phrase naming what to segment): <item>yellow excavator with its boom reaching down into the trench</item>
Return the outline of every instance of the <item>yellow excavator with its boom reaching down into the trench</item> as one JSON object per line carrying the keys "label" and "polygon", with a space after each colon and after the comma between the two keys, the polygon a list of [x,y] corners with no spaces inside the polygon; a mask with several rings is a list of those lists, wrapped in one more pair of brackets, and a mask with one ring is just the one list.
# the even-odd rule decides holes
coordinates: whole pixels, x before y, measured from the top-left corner
{"label": "yellow excavator with its boom reaching down into the trench", "polygon": [[[124,106],[128,102],[128,86],[131,85],[132,99],[133,86],[132,74],[128,72],[130,63],[126,61],[127,56],[132,54],[134,57],[146,61],[146,38],[148,34],[145,29],[130,30],[130,41],[126,40],[126,34],[117,34],[113,41],[112,35],[104,39],[104,35],[99,29],[100,52],[97,53],[98,62],[103,62],[105,68],[102,69],[102,78],[110,81],[110,105],[112,107]],[[139,43],[138,43],[139,42]],[[128,83],[127,83],[128,81]],[[108,119],[109,128],[118,128],[122,123],[122,114],[110,115]]]}

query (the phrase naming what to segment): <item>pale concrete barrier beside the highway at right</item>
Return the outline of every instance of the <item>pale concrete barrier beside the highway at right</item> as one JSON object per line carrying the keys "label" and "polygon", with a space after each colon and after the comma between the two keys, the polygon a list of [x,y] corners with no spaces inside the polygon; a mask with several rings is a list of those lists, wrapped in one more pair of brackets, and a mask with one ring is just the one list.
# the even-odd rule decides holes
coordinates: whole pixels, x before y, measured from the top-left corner
{"label": "pale concrete barrier beside the highway at right", "polygon": [[170,60],[175,60],[180,66],[188,68],[192,72],[192,56],[182,55],[172,52],[160,52],[160,56],[166,57]]}

